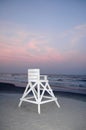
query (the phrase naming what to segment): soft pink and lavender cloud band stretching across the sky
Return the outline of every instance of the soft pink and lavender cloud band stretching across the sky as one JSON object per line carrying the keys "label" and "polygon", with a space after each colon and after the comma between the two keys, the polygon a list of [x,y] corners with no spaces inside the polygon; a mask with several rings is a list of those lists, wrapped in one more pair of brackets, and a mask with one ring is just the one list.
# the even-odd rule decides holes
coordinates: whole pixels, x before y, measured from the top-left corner
{"label": "soft pink and lavender cloud band stretching across the sky", "polygon": [[81,50],[86,25],[75,26],[56,37],[15,27],[1,28],[0,61],[4,64],[86,64],[86,52]]}

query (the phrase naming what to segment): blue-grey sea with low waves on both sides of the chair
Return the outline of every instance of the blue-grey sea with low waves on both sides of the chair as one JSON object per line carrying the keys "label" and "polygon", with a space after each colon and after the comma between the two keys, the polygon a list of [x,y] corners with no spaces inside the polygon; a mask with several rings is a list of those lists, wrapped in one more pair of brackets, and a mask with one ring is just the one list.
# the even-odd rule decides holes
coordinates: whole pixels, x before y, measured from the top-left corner
{"label": "blue-grey sea with low waves on both sides of the chair", "polygon": [[[48,80],[50,86],[53,87],[54,90],[60,88],[75,88],[75,89],[83,89],[86,88],[86,75],[51,75],[48,74]],[[21,84],[21,86],[25,86],[27,83],[27,74],[0,74],[0,81],[9,82],[14,84]],[[86,91],[86,89],[85,89]]]}

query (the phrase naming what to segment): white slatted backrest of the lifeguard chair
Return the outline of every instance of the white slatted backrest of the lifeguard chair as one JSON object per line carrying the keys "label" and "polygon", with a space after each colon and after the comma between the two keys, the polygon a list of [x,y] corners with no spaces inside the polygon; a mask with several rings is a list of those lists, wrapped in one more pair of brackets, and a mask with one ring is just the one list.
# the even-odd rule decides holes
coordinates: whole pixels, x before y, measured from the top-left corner
{"label": "white slatted backrest of the lifeguard chair", "polygon": [[36,82],[40,79],[40,69],[28,69],[28,82]]}

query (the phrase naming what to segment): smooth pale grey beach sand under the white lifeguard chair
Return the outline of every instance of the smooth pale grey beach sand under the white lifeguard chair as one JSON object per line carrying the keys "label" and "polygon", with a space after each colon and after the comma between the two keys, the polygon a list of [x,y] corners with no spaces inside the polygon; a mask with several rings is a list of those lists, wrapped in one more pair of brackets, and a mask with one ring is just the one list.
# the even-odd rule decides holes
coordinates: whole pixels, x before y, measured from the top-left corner
{"label": "smooth pale grey beach sand under the white lifeguard chair", "polygon": [[86,96],[58,94],[55,102],[37,105],[23,102],[19,108],[21,93],[0,93],[0,130],[86,130]]}

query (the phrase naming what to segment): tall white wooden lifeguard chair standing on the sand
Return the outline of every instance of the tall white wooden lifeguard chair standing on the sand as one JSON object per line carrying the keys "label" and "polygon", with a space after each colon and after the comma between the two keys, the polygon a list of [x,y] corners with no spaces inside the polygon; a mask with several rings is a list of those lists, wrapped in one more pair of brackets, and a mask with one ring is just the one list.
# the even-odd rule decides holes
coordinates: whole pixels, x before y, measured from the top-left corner
{"label": "tall white wooden lifeguard chair standing on the sand", "polygon": [[55,101],[57,106],[60,107],[47,76],[40,75],[40,69],[28,69],[28,83],[22,98],[20,98],[19,107],[23,101],[37,104],[39,114],[41,104]]}

